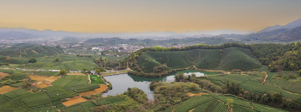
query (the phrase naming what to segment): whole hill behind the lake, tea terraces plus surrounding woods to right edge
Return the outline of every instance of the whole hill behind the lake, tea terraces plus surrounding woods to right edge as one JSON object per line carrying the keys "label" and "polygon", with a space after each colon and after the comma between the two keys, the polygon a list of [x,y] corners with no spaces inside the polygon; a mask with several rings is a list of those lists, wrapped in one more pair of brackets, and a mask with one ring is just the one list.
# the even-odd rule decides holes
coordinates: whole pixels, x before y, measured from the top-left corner
{"label": "whole hill behind the lake, tea terraces plus surrounding woods to right edge", "polygon": [[[171,52],[172,51],[172,52]],[[291,44],[197,44],[184,48],[143,48],[121,64],[135,70],[134,75],[160,77],[176,70],[199,68],[231,71],[248,71],[269,66],[277,70],[299,70],[301,43]],[[255,55],[255,56],[254,56]],[[170,57],[169,57],[170,56]],[[230,66],[230,67],[228,67]]]}

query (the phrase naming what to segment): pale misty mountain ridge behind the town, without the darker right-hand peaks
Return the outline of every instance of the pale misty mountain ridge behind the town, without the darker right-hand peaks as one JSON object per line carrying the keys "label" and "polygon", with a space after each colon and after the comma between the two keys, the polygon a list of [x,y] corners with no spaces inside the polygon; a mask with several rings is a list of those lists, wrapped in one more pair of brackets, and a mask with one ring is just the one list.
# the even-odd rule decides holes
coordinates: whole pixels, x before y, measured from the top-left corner
{"label": "pale misty mountain ridge behind the town, without the darker right-hand peaks", "polygon": [[[8,35],[3,35],[4,33],[14,31],[19,32],[20,34],[23,32],[26,38],[35,38],[35,37],[48,37],[48,36],[71,36],[71,37],[80,37],[80,38],[112,38],[112,37],[121,37],[125,39],[130,38],[151,38],[151,39],[162,39],[162,37],[170,37],[170,38],[185,38],[185,37],[212,37],[214,35],[220,34],[248,34],[252,33],[252,31],[239,31],[239,30],[211,30],[211,31],[186,31],[186,32],[173,32],[173,31],[146,31],[146,32],[124,32],[124,33],[78,33],[78,32],[69,32],[69,31],[53,31],[50,29],[47,30],[34,30],[27,29],[24,27],[19,28],[8,28],[2,27],[0,28],[0,37],[8,37]],[[34,36],[28,36],[34,35]],[[9,39],[26,39],[21,35],[10,35]]]}

